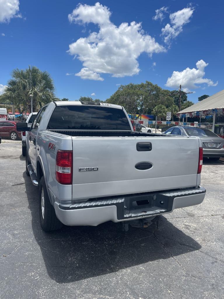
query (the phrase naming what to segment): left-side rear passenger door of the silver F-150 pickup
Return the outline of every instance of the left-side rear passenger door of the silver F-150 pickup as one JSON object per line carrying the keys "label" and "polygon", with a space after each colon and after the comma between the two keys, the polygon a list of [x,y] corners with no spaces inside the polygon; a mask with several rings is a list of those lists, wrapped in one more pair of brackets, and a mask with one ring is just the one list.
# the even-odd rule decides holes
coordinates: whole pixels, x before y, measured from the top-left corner
{"label": "left-side rear passenger door of the silver F-150 pickup", "polygon": [[35,120],[33,121],[31,131],[29,132],[29,157],[32,164],[33,169],[36,171],[36,138],[37,132],[39,128],[39,124],[42,120],[45,110],[47,106],[42,108],[38,114],[36,115]]}

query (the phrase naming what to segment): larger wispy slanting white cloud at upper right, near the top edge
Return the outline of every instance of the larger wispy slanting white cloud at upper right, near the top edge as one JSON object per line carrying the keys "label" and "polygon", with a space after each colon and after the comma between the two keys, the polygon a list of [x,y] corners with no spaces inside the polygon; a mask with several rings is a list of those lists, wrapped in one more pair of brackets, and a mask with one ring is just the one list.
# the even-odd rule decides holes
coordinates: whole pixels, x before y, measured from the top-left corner
{"label": "larger wispy slanting white cloud at upper right, near the top edge", "polygon": [[190,22],[190,18],[193,15],[193,7],[185,7],[182,10],[178,10],[175,13],[170,14],[170,24],[166,24],[162,28],[161,35],[164,37],[165,43],[170,43],[171,39],[174,39],[178,36],[179,33],[183,30],[183,25]]}

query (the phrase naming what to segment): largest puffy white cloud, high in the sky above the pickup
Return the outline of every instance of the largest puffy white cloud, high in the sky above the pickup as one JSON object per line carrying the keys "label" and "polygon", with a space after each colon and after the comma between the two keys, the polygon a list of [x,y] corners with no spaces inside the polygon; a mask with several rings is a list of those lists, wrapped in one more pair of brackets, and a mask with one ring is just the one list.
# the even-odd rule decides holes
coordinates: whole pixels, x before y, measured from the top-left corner
{"label": "largest puffy white cloud, high in the sky above the pickup", "polygon": [[[93,6],[79,4],[68,15],[70,22],[90,23],[99,26],[99,32],[79,38],[69,45],[69,53],[77,55],[82,61],[82,70],[78,73],[84,79],[103,80],[99,74],[112,74],[112,77],[124,77],[138,74],[139,55],[143,52],[166,51],[153,37],[145,34],[141,23],[122,23],[119,27],[110,21],[111,12],[99,2]],[[90,78],[87,77],[89,72]],[[93,75],[94,73],[94,75]],[[76,74],[77,75],[77,74]],[[96,77],[96,79],[93,79]]]}

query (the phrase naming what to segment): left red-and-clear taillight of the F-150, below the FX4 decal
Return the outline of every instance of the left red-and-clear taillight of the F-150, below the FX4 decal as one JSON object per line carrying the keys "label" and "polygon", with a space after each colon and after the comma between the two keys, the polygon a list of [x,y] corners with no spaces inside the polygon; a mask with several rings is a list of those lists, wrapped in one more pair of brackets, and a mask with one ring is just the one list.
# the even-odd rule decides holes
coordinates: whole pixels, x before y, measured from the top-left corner
{"label": "left red-and-clear taillight of the F-150, below the FX4 decal", "polygon": [[56,180],[60,184],[72,184],[72,150],[58,150],[56,156]]}

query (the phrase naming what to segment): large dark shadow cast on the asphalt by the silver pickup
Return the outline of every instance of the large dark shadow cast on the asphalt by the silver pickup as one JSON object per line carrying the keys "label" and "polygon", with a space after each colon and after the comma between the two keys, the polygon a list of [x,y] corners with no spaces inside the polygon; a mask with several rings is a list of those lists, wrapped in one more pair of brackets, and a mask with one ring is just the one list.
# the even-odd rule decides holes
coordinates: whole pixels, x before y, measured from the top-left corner
{"label": "large dark shadow cast on the asphalt by the silver pickup", "polygon": [[58,283],[68,283],[108,274],[154,260],[167,259],[201,248],[165,217],[159,216],[147,229],[107,222],[96,227],[64,226],[45,233],[39,224],[38,189],[23,173],[32,214],[32,229],[40,246],[48,275]]}

